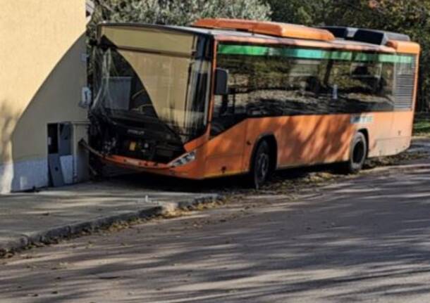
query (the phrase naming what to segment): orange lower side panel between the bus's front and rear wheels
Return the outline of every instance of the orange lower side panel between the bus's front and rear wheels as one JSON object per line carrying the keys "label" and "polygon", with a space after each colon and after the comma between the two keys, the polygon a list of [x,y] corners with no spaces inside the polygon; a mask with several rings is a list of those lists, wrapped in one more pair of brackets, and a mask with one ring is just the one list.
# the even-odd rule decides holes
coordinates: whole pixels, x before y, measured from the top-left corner
{"label": "orange lower side panel between the bus's front and rear wheels", "polygon": [[[343,161],[348,157],[354,127],[349,115],[264,117],[250,120],[247,129],[245,163],[250,163],[252,146],[261,134],[273,134],[278,145],[277,166],[295,167]],[[333,138],[327,141],[327,138]]]}

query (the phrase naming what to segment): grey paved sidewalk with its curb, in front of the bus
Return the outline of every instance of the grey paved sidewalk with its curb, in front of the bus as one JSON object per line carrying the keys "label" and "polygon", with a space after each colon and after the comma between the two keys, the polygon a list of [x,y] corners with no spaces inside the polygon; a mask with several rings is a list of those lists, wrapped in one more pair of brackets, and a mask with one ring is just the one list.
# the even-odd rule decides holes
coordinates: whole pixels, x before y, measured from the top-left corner
{"label": "grey paved sidewalk with its curb, in front of the bus", "polygon": [[151,191],[115,180],[0,195],[0,255],[117,221],[217,199],[212,194]]}

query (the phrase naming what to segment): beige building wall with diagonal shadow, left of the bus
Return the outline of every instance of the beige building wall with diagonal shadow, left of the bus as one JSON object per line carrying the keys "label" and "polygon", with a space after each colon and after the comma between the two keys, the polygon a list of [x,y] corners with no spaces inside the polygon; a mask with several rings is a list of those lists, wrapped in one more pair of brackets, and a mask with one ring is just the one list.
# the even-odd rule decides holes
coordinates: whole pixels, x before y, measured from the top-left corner
{"label": "beige building wall with diagonal shadow, left of the bus", "polygon": [[47,124],[85,136],[85,25],[85,0],[0,0],[1,193],[48,185]]}

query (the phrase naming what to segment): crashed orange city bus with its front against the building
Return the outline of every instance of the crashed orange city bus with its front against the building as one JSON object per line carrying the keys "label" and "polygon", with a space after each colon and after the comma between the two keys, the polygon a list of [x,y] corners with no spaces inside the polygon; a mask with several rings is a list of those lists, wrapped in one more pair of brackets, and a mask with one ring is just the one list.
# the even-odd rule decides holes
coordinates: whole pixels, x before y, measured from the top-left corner
{"label": "crashed orange city bus with its front against the building", "polygon": [[203,19],[103,23],[90,148],[128,169],[207,179],[342,162],[410,146],[419,45],[350,27]]}

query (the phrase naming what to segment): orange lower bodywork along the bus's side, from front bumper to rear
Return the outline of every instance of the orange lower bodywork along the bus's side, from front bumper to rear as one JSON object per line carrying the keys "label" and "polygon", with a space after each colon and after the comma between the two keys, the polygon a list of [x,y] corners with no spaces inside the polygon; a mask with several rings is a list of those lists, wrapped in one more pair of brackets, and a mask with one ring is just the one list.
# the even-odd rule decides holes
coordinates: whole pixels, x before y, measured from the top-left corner
{"label": "orange lower bodywork along the bus's side, from front bumper to rear", "polygon": [[[393,116],[397,124],[392,128]],[[105,160],[142,172],[205,179],[249,172],[254,146],[269,134],[275,136],[278,144],[278,169],[343,162],[348,160],[350,143],[360,130],[367,131],[369,136],[369,157],[395,155],[410,146],[412,118],[410,111],[254,118],[199,146],[196,160],[181,167],[138,166],[135,160],[120,156]]]}

